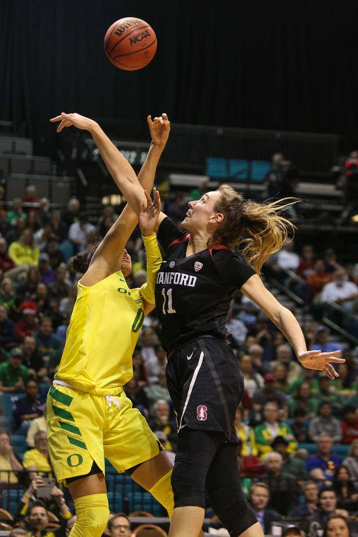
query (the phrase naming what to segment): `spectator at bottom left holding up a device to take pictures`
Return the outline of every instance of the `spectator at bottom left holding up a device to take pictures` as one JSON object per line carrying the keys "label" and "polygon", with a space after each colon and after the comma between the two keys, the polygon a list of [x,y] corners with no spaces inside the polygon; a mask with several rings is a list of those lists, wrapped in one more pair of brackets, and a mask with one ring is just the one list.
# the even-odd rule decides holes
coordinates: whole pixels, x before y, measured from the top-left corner
{"label": "spectator at bottom left holding up a device to take pictures", "polygon": [[[72,517],[72,513],[66,505],[62,490],[58,487],[53,487],[51,490],[51,500],[36,500],[36,491],[44,486],[41,477],[34,478],[25,491],[23,497],[17,506],[14,519],[17,523],[25,524],[30,537],[55,536],[65,537],[66,522]],[[47,505],[51,508],[51,512],[61,518],[61,527],[56,529],[46,530],[49,524]]]}

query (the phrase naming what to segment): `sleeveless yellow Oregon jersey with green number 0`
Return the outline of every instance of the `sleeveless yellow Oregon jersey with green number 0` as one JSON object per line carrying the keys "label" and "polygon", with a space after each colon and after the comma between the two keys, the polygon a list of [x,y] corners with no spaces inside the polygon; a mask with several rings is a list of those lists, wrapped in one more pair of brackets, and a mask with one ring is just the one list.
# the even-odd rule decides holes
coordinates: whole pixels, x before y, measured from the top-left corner
{"label": "sleeveless yellow Oregon jersey with green number 0", "polygon": [[133,375],[132,352],[144,320],[138,289],[121,271],[92,287],[78,283],[55,379],[94,395],[117,395]]}

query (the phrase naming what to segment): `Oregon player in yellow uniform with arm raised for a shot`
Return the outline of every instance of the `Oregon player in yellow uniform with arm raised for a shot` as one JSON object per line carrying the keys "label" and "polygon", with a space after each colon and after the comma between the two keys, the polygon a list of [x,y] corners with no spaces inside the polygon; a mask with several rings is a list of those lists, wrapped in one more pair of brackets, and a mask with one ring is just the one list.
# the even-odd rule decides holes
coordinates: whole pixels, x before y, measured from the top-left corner
{"label": "Oregon player in yellow uniform with arm raised for a shot", "polygon": [[[173,510],[171,463],[140,412],[132,408],[123,384],[132,372],[132,351],[144,315],[154,308],[155,274],[161,256],[153,233],[160,213],[159,193],[151,190],[159,157],[169,134],[166,114],[148,117],[152,144],[138,179],[131,165],[99,125],[78,114],[61,114],[58,131],[75,125],[91,132],[102,155],[114,154],[114,173],[125,198],[139,210],[147,252],[147,284],[130,289],[125,277],[131,259],[124,246],[138,217],[127,205],[94,251],[74,259],[84,275],[66,334],[66,344],[47,400],[49,452],[58,481],[68,484],[77,521],[71,537],[99,537],[108,520],[105,457],[119,471],[149,490]],[[106,162],[106,158],[105,158]]]}

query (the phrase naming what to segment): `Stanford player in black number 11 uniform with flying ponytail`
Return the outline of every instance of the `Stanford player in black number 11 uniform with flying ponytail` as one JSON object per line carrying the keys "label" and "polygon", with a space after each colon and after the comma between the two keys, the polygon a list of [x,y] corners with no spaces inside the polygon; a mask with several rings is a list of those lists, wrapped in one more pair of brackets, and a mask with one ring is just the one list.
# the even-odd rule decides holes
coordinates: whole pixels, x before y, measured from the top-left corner
{"label": "Stanford player in black number 11 uniform with flying ponytail", "polygon": [[[117,183],[115,150],[96,143]],[[205,487],[215,513],[232,537],[263,537],[243,498],[237,467],[234,418],[243,378],[225,340],[229,303],[236,289],[278,326],[302,366],[333,379],[338,374],[330,362],[345,361],[338,358],[340,351],[307,351],[299,323],[259,278],[265,260],[281,248],[291,225],[280,216],[281,210],[279,201],[245,201],[222,185],[189,202],[182,222],[188,233],[180,231],[165,214],[159,215],[158,240],[165,258],[156,278],[155,302],[178,424],[171,480],[175,508],[169,537],[198,535],[204,519]],[[243,235],[248,238],[242,243]],[[244,262],[232,250],[238,244],[243,246]]]}

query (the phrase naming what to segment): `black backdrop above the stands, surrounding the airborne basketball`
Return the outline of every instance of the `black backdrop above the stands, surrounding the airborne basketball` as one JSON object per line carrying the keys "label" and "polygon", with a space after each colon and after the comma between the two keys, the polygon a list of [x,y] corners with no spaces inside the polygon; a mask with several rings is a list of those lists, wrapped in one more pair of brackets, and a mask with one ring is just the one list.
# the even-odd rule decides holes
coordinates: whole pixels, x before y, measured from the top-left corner
{"label": "black backdrop above the stands, surrounding the airborne basketball", "polygon": [[[358,10],[351,0],[1,0],[0,119],[36,153],[61,111],[144,121],[357,135]],[[135,16],[158,38],[140,71],[115,68],[107,28]]]}

